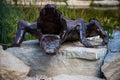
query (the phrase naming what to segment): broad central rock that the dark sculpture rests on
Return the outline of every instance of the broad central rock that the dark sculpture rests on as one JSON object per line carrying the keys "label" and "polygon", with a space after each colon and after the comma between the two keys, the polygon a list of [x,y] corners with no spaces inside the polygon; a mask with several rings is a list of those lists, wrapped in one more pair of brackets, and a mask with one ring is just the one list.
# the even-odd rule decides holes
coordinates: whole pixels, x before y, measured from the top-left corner
{"label": "broad central rock that the dark sculpture rests on", "polygon": [[63,44],[57,55],[50,56],[41,50],[37,40],[30,40],[23,42],[21,47],[8,48],[7,51],[31,67],[29,73],[31,76],[43,74],[48,77],[60,74],[98,76],[100,59],[106,54],[106,47],[85,48],[80,42],[71,42]]}

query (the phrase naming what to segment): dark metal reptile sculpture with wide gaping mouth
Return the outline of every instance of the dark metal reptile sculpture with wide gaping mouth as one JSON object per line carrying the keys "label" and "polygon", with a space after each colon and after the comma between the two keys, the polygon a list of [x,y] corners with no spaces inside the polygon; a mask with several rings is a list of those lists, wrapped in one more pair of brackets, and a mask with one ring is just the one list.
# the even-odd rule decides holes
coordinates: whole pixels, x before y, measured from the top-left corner
{"label": "dark metal reptile sculpture with wide gaping mouth", "polygon": [[95,47],[86,37],[96,34],[103,39],[102,45],[107,44],[109,40],[96,19],[91,19],[89,23],[82,19],[66,19],[54,4],[47,4],[42,8],[36,23],[19,21],[18,31],[11,46],[19,47],[26,32],[38,38],[40,47],[50,55],[56,54],[66,40],[79,40],[85,47]]}

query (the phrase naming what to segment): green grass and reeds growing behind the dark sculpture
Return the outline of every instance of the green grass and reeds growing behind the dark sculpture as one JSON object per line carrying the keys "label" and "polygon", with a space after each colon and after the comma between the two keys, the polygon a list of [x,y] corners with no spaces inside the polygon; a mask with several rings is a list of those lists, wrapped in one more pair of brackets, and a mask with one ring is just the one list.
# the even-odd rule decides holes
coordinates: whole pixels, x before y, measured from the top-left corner
{"label": "green grass and reeds growing behind the dark sculpture", "polygon": [[[96,18],[102,27],[111,37],[113,29],[120,29],[120,15],[117,10],[100,11],[94,9],[68,9],[67,6],[59,6],[58,9],[66,18],[78,19],[82,18],[88,22],[90,18]],[[26,20],[28,22],[36,22],[39,16],[37,6],[12,6],[6,4],[5,0],[0,2],[0,43],[12,43],[17,32],[17,22]],[[25,40],[35,39],[33,36],[26,34]]]}

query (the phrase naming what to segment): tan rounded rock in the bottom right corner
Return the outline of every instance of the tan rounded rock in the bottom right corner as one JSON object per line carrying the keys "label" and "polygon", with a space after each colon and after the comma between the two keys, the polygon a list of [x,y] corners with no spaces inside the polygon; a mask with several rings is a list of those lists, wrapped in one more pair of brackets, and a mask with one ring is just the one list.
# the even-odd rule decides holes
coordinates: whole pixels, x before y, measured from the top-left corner
{"label": "tan rounded rock in the bottom right corner", "polygon": [[[111,54],[119,55],[113,56],[112,59],[110,57],[106,57],[104,65],[102,66],[102,71],[107,80],[120,80],[120,52]],[[110,59],[107,60],[108,58]]]}

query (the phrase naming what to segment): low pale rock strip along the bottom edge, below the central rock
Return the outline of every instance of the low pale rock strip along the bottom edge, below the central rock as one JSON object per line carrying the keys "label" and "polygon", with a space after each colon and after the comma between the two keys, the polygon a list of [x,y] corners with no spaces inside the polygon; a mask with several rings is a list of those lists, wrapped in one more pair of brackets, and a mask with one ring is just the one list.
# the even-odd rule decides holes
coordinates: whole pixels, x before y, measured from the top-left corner
{"label": "low pale rock strip along the bottom edge, below the central rock", "polygon": [[61,74],[49,78],[45,75],[37,75],[34,77],[27,77],[25,80],[105,80],[105,79],[101,79],[93,76]]}

